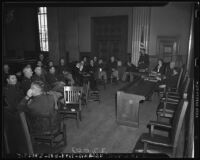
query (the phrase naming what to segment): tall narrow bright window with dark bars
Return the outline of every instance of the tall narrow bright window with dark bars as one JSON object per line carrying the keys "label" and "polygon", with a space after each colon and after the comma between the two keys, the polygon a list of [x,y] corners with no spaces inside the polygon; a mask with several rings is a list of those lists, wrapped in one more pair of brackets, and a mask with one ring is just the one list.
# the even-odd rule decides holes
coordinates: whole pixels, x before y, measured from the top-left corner
{"label": "tall narrow bright window with dark bars", "polygon": [[49,51],[47,7],[38,8],[38,24],[39,24],[39,34],[40,34],[40,50]]}

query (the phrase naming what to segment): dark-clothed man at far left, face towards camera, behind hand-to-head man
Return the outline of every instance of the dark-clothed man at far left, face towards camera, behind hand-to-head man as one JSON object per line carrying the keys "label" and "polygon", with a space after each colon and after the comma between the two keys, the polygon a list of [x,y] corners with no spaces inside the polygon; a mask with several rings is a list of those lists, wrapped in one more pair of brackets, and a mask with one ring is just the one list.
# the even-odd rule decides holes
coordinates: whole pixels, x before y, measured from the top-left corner
{"label": "dark-clothed man at far left, face towards camera, behind hand-to-head man", "polygon": [[8,103],[8,107],[13,112],[17,111],[17,105],[24,97],[24,93],[17,82],[17,77],[14,73],[9,73],[7,76],[7,86],[4,90],[5,99]]}

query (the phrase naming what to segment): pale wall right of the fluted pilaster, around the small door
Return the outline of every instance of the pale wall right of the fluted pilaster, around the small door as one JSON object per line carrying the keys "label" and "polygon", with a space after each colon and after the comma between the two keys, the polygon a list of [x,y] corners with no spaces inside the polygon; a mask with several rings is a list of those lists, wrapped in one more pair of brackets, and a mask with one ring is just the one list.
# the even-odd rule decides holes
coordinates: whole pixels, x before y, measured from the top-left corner
{"label": "pale wall right of the fluted pilaster, around the small door", "polygon": [[149,54],[156,55],[157,36],[179,36],[179,54],[188,53],[188,40],[191,24],[191,4],[170,2],[164,7],[151,8]]}

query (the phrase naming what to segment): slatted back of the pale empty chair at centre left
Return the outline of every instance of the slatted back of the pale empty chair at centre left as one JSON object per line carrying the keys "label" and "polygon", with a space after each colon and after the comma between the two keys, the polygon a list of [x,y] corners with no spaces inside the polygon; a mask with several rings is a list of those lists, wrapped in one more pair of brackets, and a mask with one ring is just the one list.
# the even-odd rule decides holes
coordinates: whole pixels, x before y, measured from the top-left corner
{"label": "slatted back of the pale empty chair at centre left", "polygon": [[82,87],[64,86],[65,104],[79,104],[82,92]]}

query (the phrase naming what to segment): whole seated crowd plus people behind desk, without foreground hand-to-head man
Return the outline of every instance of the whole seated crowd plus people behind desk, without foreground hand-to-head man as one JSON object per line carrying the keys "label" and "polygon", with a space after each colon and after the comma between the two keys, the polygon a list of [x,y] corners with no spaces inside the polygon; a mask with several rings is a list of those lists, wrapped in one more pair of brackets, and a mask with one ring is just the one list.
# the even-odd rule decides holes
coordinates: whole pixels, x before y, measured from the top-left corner
{"label": "whole seated crowd plus people behind desk, without foreground hand-to-head man", "polygon": [[[148,58],[144,58],[142,53],[138,65],[142,64],[141,68],[148,67]],[[144,62],[143,62],[144,61]],[[108,78],[116,78],[116,80],[132,81],[134,78],[133,72],[137,72],[139,67],[136,67],[130,61],[126,63],[124,69],[122,69],[122,62],[117,61],[114,56],[110,57],[110,60],[106,63],[102,58],[94,57],[90,60],[84,57],[80,62],[76,62],[74,65],[67,65],[64,58],[61,58],[59,65],[55,66],[53,61],[45,62],[44,55],[40,54],[39,59],[34,68],[34,74],[32,66],[27,64],[23,70],[23,76],[21,72],[14,73],[10,71],[8,64],[4,64],[4,96],[6,101],[12,108],[16,109],[16,105],[22,100],[24,96],[28,94],[31,85],[35,82],[42,82],[44,85],[42,90],[45,92],[63,92],[63,86],[78,85],[82,86],[85,79],[90,81],[90,89],[97,89],[97,80],[102,79],[107,83]],[[158,80],[160,84],[166,84],[172,86],[177,79],[178,71],[175,68],[175,63],[171,62],[169,65],[164,65],[163,60],[158,60],[158,65],[152,71],[152,73],[158,73]],[[38,85],[38,84],[37,84]]]}

